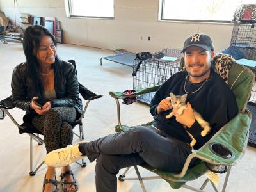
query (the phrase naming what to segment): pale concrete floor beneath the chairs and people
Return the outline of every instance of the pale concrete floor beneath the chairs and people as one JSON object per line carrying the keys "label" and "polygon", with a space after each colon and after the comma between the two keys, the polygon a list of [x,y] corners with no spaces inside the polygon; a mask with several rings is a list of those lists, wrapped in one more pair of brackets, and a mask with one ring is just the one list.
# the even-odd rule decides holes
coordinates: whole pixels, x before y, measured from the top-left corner
{"label": "pale concrete floor beneath the chairs and people", "polygon": [[[22,45],[17,43],[0,44],[1,53],[1,83],[0,99],[10,95],[10,81],[12,70],[15,65],[25,61]],[[76,60],[79,82],[95,93],[104,95],[102,99],[93,100],[89,107],[86,119],[84,119],[85,140],[91,141],[113,133],[113,127],[116,122],[116,104],[108,92],[110,90],[120,91],[132,88],[132,68],[110,61],[103,61],[100,66],[100,57],[112,55],[112,51],[103,49],[93,49],[76,45],[60,44],[58,45],[58,54],[62,60]],[[152,120],[148,107],[142,104],[132,104],[130,106],[121,106],[122,123],[126,125],[138,125]],[[22,122],[24,112],[20,109],[12,109],[12,114],[19,122]],[[255,117],[253,117],[255,118]],[[41,191],[42,182],[46,166],[42,166],[34,177],[29,176],[29,136],[19,134],[17,127],[7,117],[1,120],[0,150],[1,158],[1,177],[0,191]],[[78,138],[74,138],[74,143]],[[40,163],[45,156],[44,146],[36,143],[33,145],[35,151],[34,161]],[[251,192],[256,189],[256,152],[255,148],[247,147],[246,154],[241,163],[232,168],[230,181],[227,191]],[[77,178],[80,189],[79,191],[95,191],[95,163],[89,163],[86,168],[81,168],[77,164],[72,164],[73,172]],[[141,175],[148,176],[147,170],[141,170]],[[121,170],[121,173],[123,170]],[[60,169],[57,170],[60,173]],[[127,173],[132,177],[135,176],[134,170]],[[57,175],[57,178],[58,175]],[[199,186],[202,178],[188,182]],[[221,176],[218,188],[223,184]],[[174,191],[167,182],[163,180],[145,181],[147,191]],[[205,188],[206,191],[213,191],[211,186]],[[118,191],[141,191],[138,181],[129,180],[118,182]],[[188,191],[188,189],[178,189],[177,191]]]}

